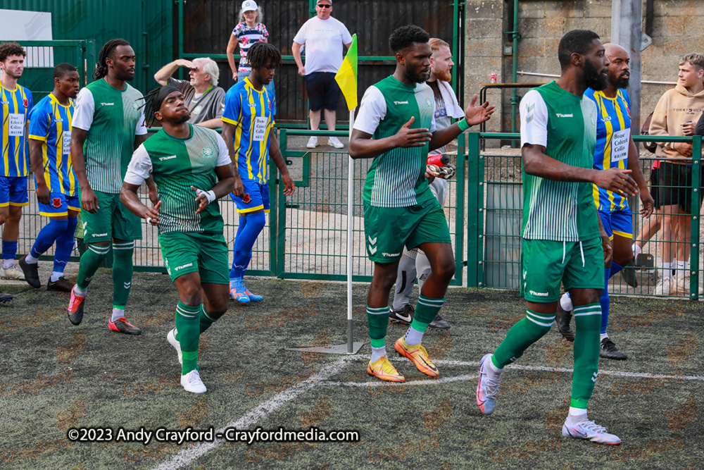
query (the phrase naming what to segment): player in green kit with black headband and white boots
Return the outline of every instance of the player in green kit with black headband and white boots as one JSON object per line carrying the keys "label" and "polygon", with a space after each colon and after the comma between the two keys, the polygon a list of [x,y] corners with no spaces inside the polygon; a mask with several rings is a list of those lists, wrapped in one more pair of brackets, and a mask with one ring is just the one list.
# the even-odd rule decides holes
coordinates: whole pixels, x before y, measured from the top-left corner
{"label": "player in green kit with black headband and white boots", "polygon": [[[230,154],[214,130],[189,124],[186,99],[166,85],[146,96],[147,123],[163,126],[132,155],[120,200],[159,229],[164,264],[176,285],[176,328],[167,339],[178,353],[181,385],[204,393],[198,371],[200,334],[227,311],[227,242],[215,199],[234,189]],[[150,175],[161,201],[149,208],[137,196]]]}

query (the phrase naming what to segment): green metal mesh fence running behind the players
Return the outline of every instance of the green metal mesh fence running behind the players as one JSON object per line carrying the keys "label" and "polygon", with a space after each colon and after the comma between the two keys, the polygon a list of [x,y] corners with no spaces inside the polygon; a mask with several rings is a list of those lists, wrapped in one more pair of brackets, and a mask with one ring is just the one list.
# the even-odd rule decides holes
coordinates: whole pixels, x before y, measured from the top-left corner
{"label": "green metal mesh fence running behind the players", "polygon": [[[346,137],[346,132],[279,130],[282,154],[289,164],[296,192],[291,197],[284,197],[277,168],[270,163],[270,214],[264,233],[254,247],[248,271],[250,274],[289,279],[346,279],[348,155],[345,150],[336,151],[323,145],[315,150],[304,149],[303,144],[310,135]],[[449,182],[444,208],[458,266],[452,285],[464,284],[463,266],[467,266],[465,285],[469,287],[519,287],[523,214],[520,150],[482,151],[480,147],[482,140],[510,142],[519,137],[518,134],[478,132],[460,135],[460,158],[453,161],[457,165],[457,175]],[[692,142],[693,154],[701,155],[701,137],[698,136],[658,139],[634,136],[634,140]],[[321,144],[324,143],[321,139]],[[646,182],[650,182],[653,161],[654,157],[641,159]],[[370,280],[373,268],[365,252],[361,198],[369,164],[370,160],[356,161],[353,177],[353,280],[360,281]],[[629,206],[634,213],[634,242],[643,245],[633,273],[638,285],[631,287],[622,276],[615,276],[610,281],[612,294],[653,295],[658,269],[662,266],[662,252],[665,245],[670,245],[670,252],[679,249],[685,256],[689,249],[692,266],[689,270],[689,291],[675,292],[674,295],[691,299],[702,296],[699,292],[700,272],[703,269],[699,256],[702,241],[699,233],[699,195],[704,188],[700,186],[700,159],[693,159],[691,164],[693,178],[689,190],[692,210],[691,215],[685,217],[690,224],[687,228],[690,240],[678,239],[674,229],[672,233],[655,230],[667,216],[674,214],[665,213],[661,208],[650,220],[642,219],[638,214],[639,198],[631,198]],[[652,186],[655,190],[665,187],[662,181],[657,180]],[[34,237],[46,223],[46,218],[39,216],[37,211],[33,187],[30,184],[30,206],[25,208],[20,226],[18,256],[30,249]],[[148,203],[146,192],[142,198]],[[239,216],[232,200],[225,198],[219,204],[225,219],[225,238],[232,247]],[[649,240],[646,236],[637,235],[641,231]],[[143,240],[136,244],[135,270],[165,272],[156,229],[145,224],[143,233]],[[42,259],[49,260],[52,256],[53,252],[50,251]],[[108,256],[108,259],[111,257]],[[72,261],[77,261],[77,258],[72,258]],[[110,266],[109,262],[107,266]]]}

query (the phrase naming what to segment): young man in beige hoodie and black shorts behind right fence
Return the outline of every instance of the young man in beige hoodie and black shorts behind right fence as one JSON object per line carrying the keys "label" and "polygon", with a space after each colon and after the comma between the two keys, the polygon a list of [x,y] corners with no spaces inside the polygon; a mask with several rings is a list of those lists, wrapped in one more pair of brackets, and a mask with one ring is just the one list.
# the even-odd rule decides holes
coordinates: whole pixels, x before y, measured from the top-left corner
{"label": "young man in beige hoodie and black shorts behind right fence", "polygon": [[[653,137],[694,135],[704,110],[704,56],[688,54],[679,61],[677,86],[660,97],[648,132]],[[658,202],[662,206],[662,272],[655,294],[689,292],[689,240],[691,237],[692,144],[660,142],[655,156],[662,159],[658,183]],[[701,173],[699,187],[704,186]],[[700,201],[702,190],[699,190]],[[677,244],[675,245],[675,242]],[[673,278],[672,270],[677,270]]]}

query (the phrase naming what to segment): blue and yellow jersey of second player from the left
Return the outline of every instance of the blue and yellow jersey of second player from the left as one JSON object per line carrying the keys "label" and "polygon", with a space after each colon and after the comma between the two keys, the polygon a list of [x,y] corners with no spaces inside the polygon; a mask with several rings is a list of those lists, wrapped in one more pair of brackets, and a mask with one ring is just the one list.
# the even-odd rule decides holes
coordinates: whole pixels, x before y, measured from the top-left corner
{"label": "blue and yellow jersey of second player from the left", "polygon": [[68,106],[63,106],[51,93],[39,101],[30,117],[30,139],[42,142],[42,168],[49,191],[75,196],[77,183],[71,161],[75,103],[73,99],[69,101]]}

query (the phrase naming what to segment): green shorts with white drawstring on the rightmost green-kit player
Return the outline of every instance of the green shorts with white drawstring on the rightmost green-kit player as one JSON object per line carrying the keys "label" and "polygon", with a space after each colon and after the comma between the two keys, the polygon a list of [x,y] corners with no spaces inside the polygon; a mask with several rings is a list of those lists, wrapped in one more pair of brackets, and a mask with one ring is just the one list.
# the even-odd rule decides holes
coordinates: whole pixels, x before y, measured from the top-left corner
{"label": "green shorts with white drawstring on the rightmost green-kit player", "polygon": [[560,283],[565,290],[604,288],[601,237],[583,242],[524,239],[521,265],[521,295],[529,302],[557,302]]}

